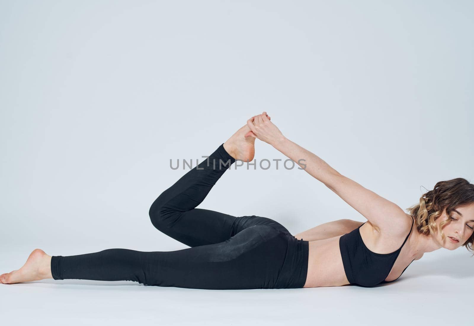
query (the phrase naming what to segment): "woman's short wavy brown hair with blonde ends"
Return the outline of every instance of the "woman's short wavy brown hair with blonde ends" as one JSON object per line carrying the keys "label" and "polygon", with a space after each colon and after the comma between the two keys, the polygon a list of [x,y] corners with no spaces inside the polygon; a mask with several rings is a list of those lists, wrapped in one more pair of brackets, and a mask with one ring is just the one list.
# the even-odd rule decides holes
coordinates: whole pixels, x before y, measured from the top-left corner
{"label": "woman's short wavy brown hair with blonde ends", "polygon": [[[413,205],[407,210],[416,221],[419,233],[431,235],[435,233],[435,220],[446,208],[447,216],[451,216],[453,209],[458,206],[474,203],[474,185],[464,178],[455,178],[447,181],[439,181],[433,190],[423,194],[419,199],[419,204]],[[446,235],[442,228],[451,222],[451,219],[439,223],[438,232],[444,240]],[[463,246],[468,251],[473,251],[474,232]],[[474,254],[473,254],[474,256]],[[472,256],[471,256],[472,257]]]}

